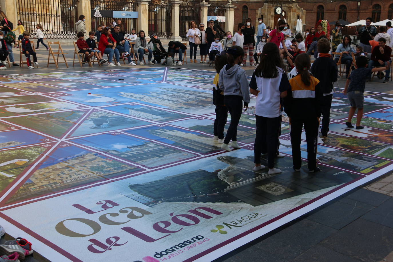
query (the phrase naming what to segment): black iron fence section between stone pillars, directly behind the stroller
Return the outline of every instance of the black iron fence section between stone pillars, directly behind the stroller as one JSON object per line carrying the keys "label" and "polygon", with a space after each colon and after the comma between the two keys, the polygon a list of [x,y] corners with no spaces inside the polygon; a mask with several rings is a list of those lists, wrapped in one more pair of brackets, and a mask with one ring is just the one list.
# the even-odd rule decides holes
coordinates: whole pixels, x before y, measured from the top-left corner
{"label": "black iron fence section between stone pillars, directly behind the stroller", "polygon": [[153,0],[149,4],[149,34],[170,38],[172,23],[172,4],[169,0]]}

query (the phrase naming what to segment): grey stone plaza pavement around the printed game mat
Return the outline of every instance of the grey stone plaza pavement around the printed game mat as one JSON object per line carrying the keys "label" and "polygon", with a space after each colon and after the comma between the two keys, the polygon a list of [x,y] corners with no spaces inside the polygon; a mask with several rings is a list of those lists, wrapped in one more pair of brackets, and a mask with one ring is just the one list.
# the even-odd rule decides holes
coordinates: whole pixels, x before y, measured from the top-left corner
{"label": "grey stone plaza pavement around the printed game mat", "polygon": [[[14,56],[19,63],[19,50]],[[106,65],[83,68],[79,64],[72,66],[73,47],[63,46],[69,68],[60,64],[46,68],[48,51],[38,50],[40,68],[33,70],[21,67],[7,68],[0,74],[47,73],[61,71],[113,70],[121,68],[141,68],[145,66],[124,65],[108,67]],[[189,51],[189,50],[187,50]],[[188,56],[188,55],[187,55]],[[199,55],[197,55],[199,58]],[[24,58],[24,57],[23,57]],[[182,68],[214,71],[208,64],[182,65]],[[53,60],[51,61],[53,62]],[[149,65],[155,67],[161,65]],[[178,66],[180,67],[180,66]],[[252,75],[253,68],[245,66],[247,75]],[[197,74],[198,71],[195,73]],[[345,80],[338,81],[344,87]],[[393,82],[383,84],[376,77],[366,83],[367,91],[393,94]],[[241,246],[216,259],[214,262],[281,262],[281,261],[384,261],[393,262],[393,172],[372,181],[367,185],[353,189],[318,209],[283,225],[270,233]],[[18,236],[13,236],[18,237]],[[13,239],[5,235],[0,243]],[[34,248],[34,243],[33,243]],[[38,253],[26,257],[26,262],[48,261]]]}

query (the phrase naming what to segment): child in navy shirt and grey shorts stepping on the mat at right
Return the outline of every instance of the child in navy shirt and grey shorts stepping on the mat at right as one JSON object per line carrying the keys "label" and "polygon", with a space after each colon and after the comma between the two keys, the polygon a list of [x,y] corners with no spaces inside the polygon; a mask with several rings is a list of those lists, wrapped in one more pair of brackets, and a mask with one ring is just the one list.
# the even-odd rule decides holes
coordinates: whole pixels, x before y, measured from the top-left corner
{"label": "child in navy shirt and grey shorts stepping on the mat at right", "polygon": [[[368,78],[371,77],[371,73],[377,71],[385,71],[390,67],[389,62],[387,62],[386,67],[375,67],[367,68],[368,58],[364,55],[356,58],[356,69],[351,72],[348,77],[347,82],[345,82],[345,89],[343,94],[347,95],[349,103],[351,103],[351,109],[349,109],[348,120],[345,123],[349,128],[353,128],[352,117],[355,114],[356,108],[358,109],[358,114],[356,115],[356,129],[362,129],[363,126],[360,125],[360,121],[363,116],[363,101],[364,101],[364,88],[365,83]],[[313,66],[314,67],[314,66]]]}

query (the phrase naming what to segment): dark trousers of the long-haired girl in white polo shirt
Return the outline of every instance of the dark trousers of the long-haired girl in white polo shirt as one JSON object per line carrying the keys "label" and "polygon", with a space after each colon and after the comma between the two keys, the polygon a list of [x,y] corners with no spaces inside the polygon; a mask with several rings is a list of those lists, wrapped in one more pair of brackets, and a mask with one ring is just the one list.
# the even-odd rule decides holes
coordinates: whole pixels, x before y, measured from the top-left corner
{"label": "dark trousers of the long-haired girl in white polo shirt", "polygon": [[254,163],[261,163],[261,153],[268,154],[268,168],[274,168],[274,158],[277,156],[279,146],[278,137],[281,133],[281,119],[279,117],[263,117],[255,115],[256,134],[254,144]]}

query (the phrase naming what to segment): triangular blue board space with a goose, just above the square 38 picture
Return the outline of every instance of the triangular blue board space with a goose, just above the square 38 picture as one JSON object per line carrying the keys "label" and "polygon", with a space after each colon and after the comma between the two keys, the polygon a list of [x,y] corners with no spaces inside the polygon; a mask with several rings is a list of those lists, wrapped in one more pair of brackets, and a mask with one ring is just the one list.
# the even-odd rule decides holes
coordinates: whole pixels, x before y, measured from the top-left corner
{"label": "triangular blue board space with a goose, just above the square 38 picture", "polygon": [[109,132],[137,126],[152,125],[152,122],[112,114],[110,112],[93,110],[71,133],[70,137]]}

